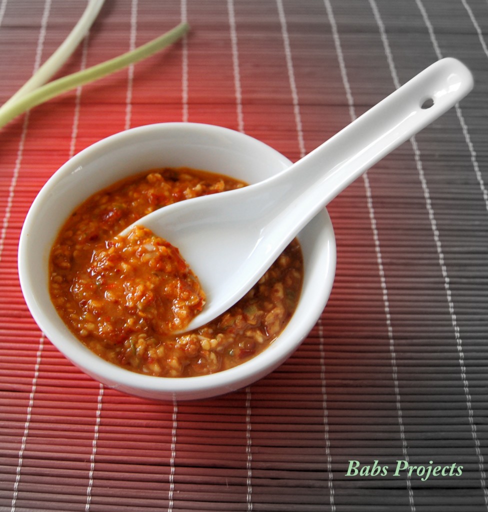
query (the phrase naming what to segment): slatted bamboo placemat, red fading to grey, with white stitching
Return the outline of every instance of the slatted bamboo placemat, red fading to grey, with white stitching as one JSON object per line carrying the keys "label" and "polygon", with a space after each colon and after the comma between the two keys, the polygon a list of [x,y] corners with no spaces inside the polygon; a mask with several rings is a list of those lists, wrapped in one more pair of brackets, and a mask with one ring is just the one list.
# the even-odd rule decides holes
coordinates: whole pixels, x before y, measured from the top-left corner
{"label": "slatted bamboo placemat, red fading to grey, with white stitching", "polygon": [[[0,1],[0,101],[85,5]],[[62,74],[181,20],[192,30],[170,49],[0,131],[0,510],[488,510],[488,2],[112,0]],[[41,334],[17,242],[71,155],[184,120],[296,160],[443,56],[470,67],[474,91],[329,205],[332,295],[268,377],[215,399],[142,400],[83,375]],[[375,460],[386,475],[364,474]],[[350,461],[363,474],[348,476]],[[397,461],[417,467],[395,476]],[[429,465],[452,475],[426,478]]]}

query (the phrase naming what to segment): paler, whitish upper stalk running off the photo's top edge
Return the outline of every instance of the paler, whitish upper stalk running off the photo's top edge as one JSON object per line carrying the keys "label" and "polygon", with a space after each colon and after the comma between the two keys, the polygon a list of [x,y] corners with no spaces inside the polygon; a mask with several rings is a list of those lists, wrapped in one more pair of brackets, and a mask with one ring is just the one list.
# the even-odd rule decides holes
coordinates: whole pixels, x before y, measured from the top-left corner
{"label": "paler, whitish upper stalk running off the photo's top edge", "polygon": [[31,76],[31,78],[27,80],[27,82],[4,103],[4,105],[12,104],[20,97],[25,96],[27,93],[30,93],[34,89],[44,85],[59,70],[59,68],[68,60],[80,44],[81,39],[87,35],[104,2],[105,0],[89,0],[86,9],[78,20],[78,23],[68,34],[66,39],[46,60],[46,62],[44,62],[44,64]]}

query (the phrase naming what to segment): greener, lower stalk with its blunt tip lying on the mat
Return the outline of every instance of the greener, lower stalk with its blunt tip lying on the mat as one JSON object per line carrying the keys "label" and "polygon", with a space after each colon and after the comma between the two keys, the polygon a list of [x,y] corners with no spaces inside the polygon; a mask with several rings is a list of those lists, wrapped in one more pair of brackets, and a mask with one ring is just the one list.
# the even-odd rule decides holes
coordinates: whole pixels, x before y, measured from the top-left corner
{"label": "greener, lower stalk with its blunt tip lying on the mat", "polygon": [[59,96],[62,93],[76,89],[86,83],[93,82],[103,78],[104,76],[110,75],[111,73],[115,73],[116,71],[130,66],[131,64],[154,55],[156,52],[177,41],[188,31],[188,28],[188,24],[182,23],[135,50],[126,52],[118,57],[106,60],[105,62],[101,62],[91,68],[53,80],[44,86],[38,87],[23,97],[20,97],[13,103],[8,105],[4,104],[0,107],[0,127],[4,126],[18,115],[32,109],[36,105],[44,103],[45,101]]}

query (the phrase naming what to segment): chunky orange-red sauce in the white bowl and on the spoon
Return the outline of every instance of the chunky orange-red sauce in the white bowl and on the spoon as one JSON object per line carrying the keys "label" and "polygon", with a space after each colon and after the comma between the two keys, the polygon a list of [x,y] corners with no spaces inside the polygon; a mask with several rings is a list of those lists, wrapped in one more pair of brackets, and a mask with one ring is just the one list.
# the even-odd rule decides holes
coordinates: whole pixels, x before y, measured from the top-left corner
{"label": "chunky orange-red sauce in the white bowl and on the spoon", "polygon": [[63,321],[99,356],[149,375],[215,373],[264,350],[298,302],[303,261],[296,240],[239,303],[199,329],[172,334],[204,305],[197,277],[178,249],[150,230],[137,227],[117,237],[157,208],[242,186],[223,175],[164,168],[82,203],[51,251],[51,298]]}

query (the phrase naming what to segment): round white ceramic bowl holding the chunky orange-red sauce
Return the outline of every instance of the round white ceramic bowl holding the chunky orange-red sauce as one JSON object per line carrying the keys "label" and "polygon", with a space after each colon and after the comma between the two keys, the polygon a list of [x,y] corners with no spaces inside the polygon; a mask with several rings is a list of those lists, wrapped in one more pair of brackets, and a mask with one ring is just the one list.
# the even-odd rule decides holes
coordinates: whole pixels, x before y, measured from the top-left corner
{"label": "round white ceramic bowl holding the chunky orange-red sauce", "polygon": [[195,399],[249,385],[278,367],[310,332],[328,300],[335,273],[335,238],[324,209],[300,233],[305,274],[298,308],[263,353],[213,375],[165,378],[124,370],[101,359],[70,332],[51,303],[48,261],[57,233],[75,206],[97,190],[157,167],[187,166],[248,183],[290,165],[268,145],[220,126],[161,123],[103,139],[60,167],[40,190],[20,235],[18,270],[27,305],[40,329],[83,372],[111,388],[153,399]]}

